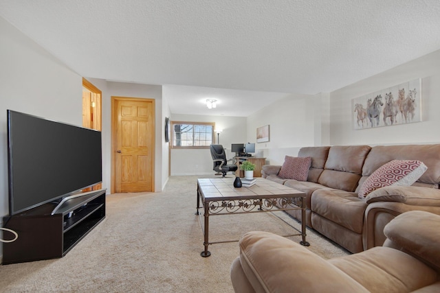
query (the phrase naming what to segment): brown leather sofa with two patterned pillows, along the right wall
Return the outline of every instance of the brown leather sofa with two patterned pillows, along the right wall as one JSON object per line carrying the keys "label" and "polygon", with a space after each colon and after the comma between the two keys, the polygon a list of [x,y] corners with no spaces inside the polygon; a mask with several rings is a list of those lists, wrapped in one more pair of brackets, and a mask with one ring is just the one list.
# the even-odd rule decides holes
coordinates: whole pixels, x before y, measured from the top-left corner
{"label": "brown leather sofa with two patterned pillows, along the right wall", "polygon": [[[312,158],[307,181],[280,178],[276,165],[263,165],[263,178],[304,191],[307,226],[351,253],[382,246],[384,226],[405,211],[440,215],[440,144],[306,147],[298,156]],[[410,187],[382,187],[358,198],[364,180],[395,159],[419,160],[428,169]],[[299,211],[289,213],[301,219]]]}

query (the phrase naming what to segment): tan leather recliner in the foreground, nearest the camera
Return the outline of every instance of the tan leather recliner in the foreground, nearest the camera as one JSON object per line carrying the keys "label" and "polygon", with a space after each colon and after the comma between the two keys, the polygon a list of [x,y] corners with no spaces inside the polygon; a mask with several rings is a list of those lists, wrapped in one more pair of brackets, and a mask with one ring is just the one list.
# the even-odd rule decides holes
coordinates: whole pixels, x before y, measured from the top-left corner
{"label": "tan leather recliner in the foreground, nearest the camera", "polygon": [[440,292],[440,215],[407,211],[384,233],[383,246],[326,260],[290,239],[248,232],[230,270],[234,291]]}

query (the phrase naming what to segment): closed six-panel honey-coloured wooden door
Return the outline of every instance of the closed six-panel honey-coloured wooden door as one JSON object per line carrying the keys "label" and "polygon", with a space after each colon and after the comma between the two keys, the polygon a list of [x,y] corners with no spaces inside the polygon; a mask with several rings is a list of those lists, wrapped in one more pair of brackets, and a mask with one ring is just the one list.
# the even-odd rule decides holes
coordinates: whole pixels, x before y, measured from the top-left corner
{"label": "closed six-panel honey-coloured wooden door", "polygon": [[154,190],[154,102],[154,99],[112,97],[112,192]]}

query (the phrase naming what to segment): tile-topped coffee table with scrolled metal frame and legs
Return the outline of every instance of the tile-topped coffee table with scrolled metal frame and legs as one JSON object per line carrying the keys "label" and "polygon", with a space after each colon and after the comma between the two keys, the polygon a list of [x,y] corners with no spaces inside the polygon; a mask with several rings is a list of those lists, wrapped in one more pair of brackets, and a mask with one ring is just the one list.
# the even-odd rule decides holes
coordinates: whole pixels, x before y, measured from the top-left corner
{"label": "tile-topped coffee table with scrolled metal frame and legs", "polygon": [[256,178],[252,187],[234,188],[234,178],[199,178],[197,179],[197,211],[200,215],[200,203],[203,205],[204,235],[201,252],[202,257],[209,257],[208,245],[225,242],[209,242],[209,216],[225,215],[232,213],[261,213],[267,211],[289,211],[301,209],[301,231],[299,234],[287,235],[285,237],[302,235],[300,242],[303,246],[309,246],[306,241],[305,228],[305,193],[280,183],[265,178]]}

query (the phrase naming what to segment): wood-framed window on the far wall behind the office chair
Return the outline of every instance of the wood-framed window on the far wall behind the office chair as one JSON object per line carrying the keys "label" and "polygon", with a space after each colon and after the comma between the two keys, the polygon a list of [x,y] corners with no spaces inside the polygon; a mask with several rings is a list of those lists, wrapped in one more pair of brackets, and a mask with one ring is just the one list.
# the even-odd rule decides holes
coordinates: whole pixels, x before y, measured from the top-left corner
{"label": "wood-framed window on the far wall behind the office chair", "polygon": [[209,148],[214,143],[214,122],[171,122],[171,148]]}

